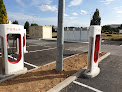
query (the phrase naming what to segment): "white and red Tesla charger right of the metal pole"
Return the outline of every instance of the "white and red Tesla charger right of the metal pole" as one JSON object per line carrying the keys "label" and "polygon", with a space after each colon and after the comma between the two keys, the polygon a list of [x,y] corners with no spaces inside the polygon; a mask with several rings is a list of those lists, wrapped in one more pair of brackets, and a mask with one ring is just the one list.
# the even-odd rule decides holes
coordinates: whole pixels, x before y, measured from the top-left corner
{"label": "white and red Tesla charger right of the metal pole", "polygon": [[100,68],[98,67],[100,38],[101,26],[90,26],[87,69],[84,73],[86,77],[93,78],[100,73]]}

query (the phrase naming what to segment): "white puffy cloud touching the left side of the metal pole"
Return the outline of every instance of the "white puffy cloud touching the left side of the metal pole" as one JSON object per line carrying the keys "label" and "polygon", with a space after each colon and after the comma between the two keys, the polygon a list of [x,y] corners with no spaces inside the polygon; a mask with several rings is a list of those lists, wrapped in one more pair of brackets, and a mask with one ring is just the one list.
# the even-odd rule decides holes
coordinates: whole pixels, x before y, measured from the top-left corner
{"label": "white puffy cloud touching the left side of the metal pole", "polygon": [[41,5],[39,6],[39,9],[41,11],[52,11],[52,12],[57,12],[56,6],[50,6],[50,5]]}

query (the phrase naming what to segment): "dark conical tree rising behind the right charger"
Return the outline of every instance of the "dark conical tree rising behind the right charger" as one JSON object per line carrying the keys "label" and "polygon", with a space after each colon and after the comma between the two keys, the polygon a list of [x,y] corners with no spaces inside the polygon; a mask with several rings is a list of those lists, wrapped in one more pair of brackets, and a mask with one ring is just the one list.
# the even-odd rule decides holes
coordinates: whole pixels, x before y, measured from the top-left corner
{"label": "dark conical tree rising behind the right charger", "polygon": [[94,12],[93,18],[91,20],[90,25],[100,25],[101,24],[101,17],[99,16],[99,10],[96,9]]}

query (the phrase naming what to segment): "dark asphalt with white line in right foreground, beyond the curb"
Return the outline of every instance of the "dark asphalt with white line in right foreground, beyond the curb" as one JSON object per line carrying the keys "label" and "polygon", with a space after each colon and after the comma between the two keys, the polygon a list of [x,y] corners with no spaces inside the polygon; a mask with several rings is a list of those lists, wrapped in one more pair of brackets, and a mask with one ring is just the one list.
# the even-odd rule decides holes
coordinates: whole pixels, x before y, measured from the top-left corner
{"label": "dark asphalt with white line in right foreground, beyond the curb", "polygon": [[99,67],[101,72],[97,77],[81,76],[61,92],[122,92],[122,57],[110,55]]}

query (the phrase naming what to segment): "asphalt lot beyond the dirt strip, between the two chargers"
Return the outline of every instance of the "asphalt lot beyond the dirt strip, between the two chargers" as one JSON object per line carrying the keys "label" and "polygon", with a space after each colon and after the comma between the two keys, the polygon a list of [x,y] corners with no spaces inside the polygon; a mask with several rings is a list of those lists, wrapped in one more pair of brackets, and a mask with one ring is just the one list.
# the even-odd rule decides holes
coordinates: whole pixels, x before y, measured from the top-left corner
{"label": "asphalt lot beyond the dirt strip, between the two chargers", "polygon": [[[27,45],[26,49],[28,53],[24,54],[24,66],[27,67],[28,70],[36,68],[40,65],[45,65],[53,61],[56,61],[57,42],[55,40],[27,39],[26,45]],[[81,49],[83,47],[88,48],[88,44],[65,42],[64,58],[74,54],[83,53],[85,50],[85,49]],[[13,58],[11,54],[8,57],[9,59]],[[14,59],[16,60],[15,55],[14,55]],[[0,60],[0,62],[1,61],[2,60]]]}

